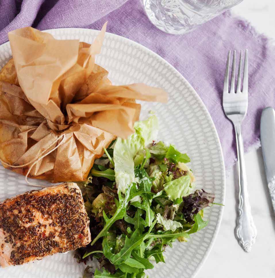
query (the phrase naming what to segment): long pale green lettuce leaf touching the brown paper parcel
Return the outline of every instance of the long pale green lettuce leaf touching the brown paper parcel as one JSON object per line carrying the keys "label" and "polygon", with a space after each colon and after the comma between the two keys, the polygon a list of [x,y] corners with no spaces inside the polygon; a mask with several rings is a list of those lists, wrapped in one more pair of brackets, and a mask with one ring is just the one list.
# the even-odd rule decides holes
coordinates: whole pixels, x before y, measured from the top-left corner
{"label": "long pale green lettuce leaf touching the brown paper parcel", "polygon": [[135,181],[134,157],[157,137],[157,117],[151,116],[145,121],[136,122],[134,129],[135,132],[127,139],[118,138],[114,146],[116,184],[122,193]]}

